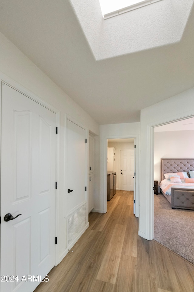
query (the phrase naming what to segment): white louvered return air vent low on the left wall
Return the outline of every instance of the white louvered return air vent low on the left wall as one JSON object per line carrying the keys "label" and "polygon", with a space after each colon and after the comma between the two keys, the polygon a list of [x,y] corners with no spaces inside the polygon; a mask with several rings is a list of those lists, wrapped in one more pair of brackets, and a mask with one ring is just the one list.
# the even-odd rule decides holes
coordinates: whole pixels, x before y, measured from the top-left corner
{"label": "white louvered return air vent low on the left wall", "polygon": [[86,204],[67,218],[67,245],[69,245],[85,228]]}

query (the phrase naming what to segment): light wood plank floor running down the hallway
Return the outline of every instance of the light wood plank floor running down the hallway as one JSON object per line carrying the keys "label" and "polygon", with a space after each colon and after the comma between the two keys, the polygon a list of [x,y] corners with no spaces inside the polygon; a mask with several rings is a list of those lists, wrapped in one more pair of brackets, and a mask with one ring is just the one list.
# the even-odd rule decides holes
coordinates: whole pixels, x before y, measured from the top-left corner
{"label": "light wood plank floor running down the hallway", "polygon": [[138,236],[133,192],[117,191],[89,224],[35,292],[194,292],[194,265]]}

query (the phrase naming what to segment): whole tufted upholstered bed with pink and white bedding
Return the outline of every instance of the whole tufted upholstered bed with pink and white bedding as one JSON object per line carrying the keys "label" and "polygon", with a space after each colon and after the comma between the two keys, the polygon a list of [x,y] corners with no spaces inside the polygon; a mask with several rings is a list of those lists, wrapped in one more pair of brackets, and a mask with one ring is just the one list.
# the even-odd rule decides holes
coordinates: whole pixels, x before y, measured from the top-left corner
{"label": "whole tufted upholstered bed with pink and white bedding", "polygon": [[194,179],[192,178],[194,178],[194,158],[161,159],[159,187],[161,193],[170,202],[171,208],[194,210]]}

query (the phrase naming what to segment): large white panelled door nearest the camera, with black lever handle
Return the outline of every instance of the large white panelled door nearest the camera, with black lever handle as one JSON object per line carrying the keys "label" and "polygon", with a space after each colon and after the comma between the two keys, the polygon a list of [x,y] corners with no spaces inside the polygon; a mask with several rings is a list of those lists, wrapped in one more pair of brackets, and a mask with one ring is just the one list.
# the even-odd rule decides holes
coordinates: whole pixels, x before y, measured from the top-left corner
{"label": "large white panelled door nearest the camera, with black lever handle", "polygon": [[55,127],[55,113],[2,84],[1,276],[13,279],[1,292],[31,292],[55,265]]}

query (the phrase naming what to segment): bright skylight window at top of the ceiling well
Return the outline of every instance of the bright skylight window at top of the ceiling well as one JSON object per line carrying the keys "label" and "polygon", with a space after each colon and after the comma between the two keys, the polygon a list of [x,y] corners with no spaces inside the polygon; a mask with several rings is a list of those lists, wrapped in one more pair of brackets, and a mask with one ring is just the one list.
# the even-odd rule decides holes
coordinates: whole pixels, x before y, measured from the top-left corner
{"label": "bright skylight window at top of the ceiling well", "polygon": [[161,0],[99,0],[104,19],[158,2]]}

